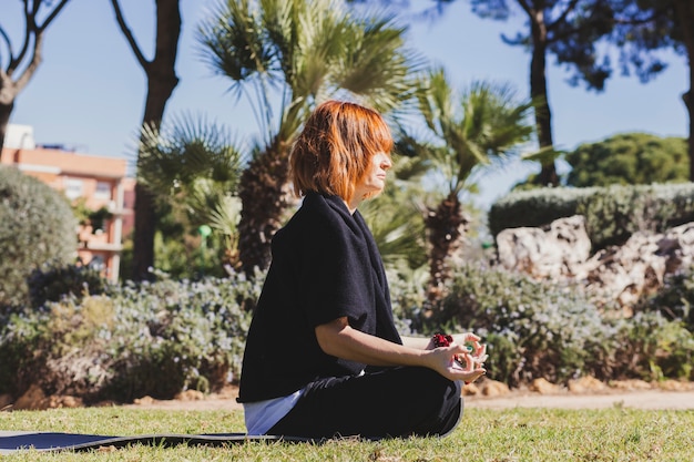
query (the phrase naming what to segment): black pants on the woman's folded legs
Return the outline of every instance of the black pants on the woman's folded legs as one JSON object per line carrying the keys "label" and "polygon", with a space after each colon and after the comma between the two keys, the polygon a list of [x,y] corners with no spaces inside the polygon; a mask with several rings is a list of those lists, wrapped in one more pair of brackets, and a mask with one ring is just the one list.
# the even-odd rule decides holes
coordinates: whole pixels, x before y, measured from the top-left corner
{"label": "black pants on the woman's folded legs", "polygon": [[427,368],[388,368],[310,383],[267,433],[367,439],[445,435],[462,417],[460,382]]}

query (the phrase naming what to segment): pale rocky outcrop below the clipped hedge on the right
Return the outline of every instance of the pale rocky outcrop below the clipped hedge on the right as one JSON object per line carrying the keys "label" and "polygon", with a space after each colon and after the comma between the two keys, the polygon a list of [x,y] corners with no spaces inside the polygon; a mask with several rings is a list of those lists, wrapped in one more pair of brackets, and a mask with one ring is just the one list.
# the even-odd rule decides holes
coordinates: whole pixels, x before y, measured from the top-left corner
{"label": "pale rocky outcrop below the clipped hedge on the right", "polygon": [[657,290],[665,276],[694,261],[694,223],[666,233],[635,233],[621,247],[590,256],[582,216],[561,218],[542,228],[510,228],[497,236],[499,263],[537,278],[572,279],[585,284],[598,300],[623,308]]}

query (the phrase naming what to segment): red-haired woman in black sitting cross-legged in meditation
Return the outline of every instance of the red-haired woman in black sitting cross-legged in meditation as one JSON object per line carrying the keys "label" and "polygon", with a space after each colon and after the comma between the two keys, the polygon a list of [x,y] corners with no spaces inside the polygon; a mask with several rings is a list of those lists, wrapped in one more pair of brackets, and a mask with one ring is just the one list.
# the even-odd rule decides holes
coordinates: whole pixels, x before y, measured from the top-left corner
{"label": "red-haired woman in black sitting cross-legged in meditation", "polygon": [[460,381],[484,373],[473,333],[435,348],[396,330],[380,255],[357,212],[384,189],[391,148],[377,112],[338,101],[320,104],[294,145],[304,201],[273,238],[248,331],[238,401],[249,434],[446,434],[462,414]]}

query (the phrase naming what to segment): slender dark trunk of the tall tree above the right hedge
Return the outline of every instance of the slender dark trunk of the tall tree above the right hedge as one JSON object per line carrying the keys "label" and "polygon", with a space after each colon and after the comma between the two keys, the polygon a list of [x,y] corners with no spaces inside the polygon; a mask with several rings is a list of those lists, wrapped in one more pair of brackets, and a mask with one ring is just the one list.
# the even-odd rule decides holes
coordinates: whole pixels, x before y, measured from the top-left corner
{"label": "slender dark trunk of the tall tree above the right hedge", "polygon": [[[530,95],[537,102],[535,126],[540,147],[553,146],[552,140],[552,113],[547,92],[547,27],[543,12],[534,11],[530,17],[532,34],[532,58],[530,61]],[[540,175],[535,183],[541,186],[557,186],[559,177],[554,161],[542,164]]]}

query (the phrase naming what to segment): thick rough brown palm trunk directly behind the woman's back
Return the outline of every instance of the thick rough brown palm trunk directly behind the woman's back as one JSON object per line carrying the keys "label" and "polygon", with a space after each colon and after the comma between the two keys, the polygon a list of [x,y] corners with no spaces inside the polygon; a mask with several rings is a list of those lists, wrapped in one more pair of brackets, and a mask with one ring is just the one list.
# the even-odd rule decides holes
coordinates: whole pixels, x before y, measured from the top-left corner
{"label": "thick rough brown palm trunk directly behind the woman's back", "polygon": [[238,196],[243,204],[238,223],[238,257],[242,270],[253,276],[255,268],[267,269],[271,242],[282,226],[287,209],[286,187],[289,183],[289,146],[275,140],[243,172]]}

